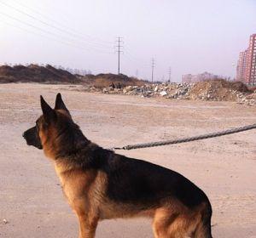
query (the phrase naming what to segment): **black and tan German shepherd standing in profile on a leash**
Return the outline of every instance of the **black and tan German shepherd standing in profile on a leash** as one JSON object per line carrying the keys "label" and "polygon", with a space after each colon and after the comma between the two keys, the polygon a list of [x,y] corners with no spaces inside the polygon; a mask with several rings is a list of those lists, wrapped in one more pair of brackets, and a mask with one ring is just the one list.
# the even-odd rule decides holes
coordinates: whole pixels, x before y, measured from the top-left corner
{"label": "black and tan German shepherd standing in profile on a leash", "polygon": [[155,238],[212,237],[210,201],[189,179],[90,142],[61,94],[55,109],[42,96],[41,107],[43,115],[23,137],[54,161],[63,193],[79,218],[79,238],[95,237],[102,219],[136,216],[153,218]]}

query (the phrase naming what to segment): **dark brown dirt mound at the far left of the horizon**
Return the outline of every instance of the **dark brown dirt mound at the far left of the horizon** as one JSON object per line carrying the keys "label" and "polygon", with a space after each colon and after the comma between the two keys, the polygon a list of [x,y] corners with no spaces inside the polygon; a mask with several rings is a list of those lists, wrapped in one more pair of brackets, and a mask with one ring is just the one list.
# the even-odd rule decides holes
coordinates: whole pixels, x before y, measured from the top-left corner
{"label": "dark brown dirt mound at the far left of the horizon", "polygon": [[0,82],[61,82],[75,83],[80,80],[68,71],[51,65],[0,66]]}

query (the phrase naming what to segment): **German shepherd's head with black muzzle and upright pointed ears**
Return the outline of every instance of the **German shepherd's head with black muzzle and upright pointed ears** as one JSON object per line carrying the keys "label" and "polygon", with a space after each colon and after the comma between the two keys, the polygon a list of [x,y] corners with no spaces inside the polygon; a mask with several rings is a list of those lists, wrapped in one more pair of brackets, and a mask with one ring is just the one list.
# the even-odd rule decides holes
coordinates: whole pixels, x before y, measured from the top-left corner
{"label": "German shepherd's head with black muzzle and upright pointed ears", "polygon": [[[55,108],[52,109],[42,96],[41,108],[43,115],[38,118],[36,125],[29,128],[22,134],[26,139],[26,144],[35,146],[42,150],[46,156],[54,157],[55,151],[60,147],[60,140],[67,137],[68,129],[76,126],[61,99],[61,94],[57,94]],[[66,136],[65,136],[66,134]]]}

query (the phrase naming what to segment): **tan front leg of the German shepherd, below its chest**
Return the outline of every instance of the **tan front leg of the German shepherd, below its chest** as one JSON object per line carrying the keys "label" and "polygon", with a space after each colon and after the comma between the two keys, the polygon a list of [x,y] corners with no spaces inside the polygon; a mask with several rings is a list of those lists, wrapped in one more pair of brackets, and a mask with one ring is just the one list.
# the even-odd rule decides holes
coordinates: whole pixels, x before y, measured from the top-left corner
{"label": "tan front leg of the German shepherd, below its chest", "polygon": [[97,224],[96,216],[79,215],[79,238],[94,238]]}

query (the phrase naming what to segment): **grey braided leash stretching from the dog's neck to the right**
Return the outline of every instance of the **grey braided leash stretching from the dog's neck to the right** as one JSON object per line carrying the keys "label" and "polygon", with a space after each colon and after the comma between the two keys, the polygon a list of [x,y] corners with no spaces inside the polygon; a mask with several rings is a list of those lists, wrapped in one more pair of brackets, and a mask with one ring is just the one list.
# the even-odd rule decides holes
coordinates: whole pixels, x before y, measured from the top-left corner
{"label": "grey braided leash stretching from the dog's neck to the right", "polygon": [[219,137],[219,136],[224,136],[227,134],[231,133],[241,133],[247,130],[252,130],[256,128],[256,123],[252,125],[248,125],[245,127],[236,127],[233,129],[217,132],[217,133],[207,133],[207,134],[202,134],[198,136],[192,136],[192,137],[186,137],[182,139],[171,139],[171,140],[164,140],[164,141],[156,141],[156,142],[151,142],[151,143],[143,143],[143,144],[130,144],[130,145],[125,145],[123,147],[113,147],[110,150],[135,150],[135,149],[141,149],[141,148],[149,148],[149,147],[155,147],[155,146],[162,146],[162,145],[167,145],[167,144],[180,144],[180,143],[185,143],[185,142],[190,142],[190,141],[195,141],[195,140],[200,140],[200,139],[209,139],[209,138],[214,138],[214,137]]}

